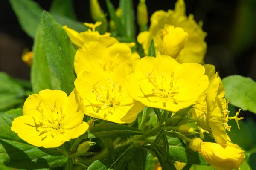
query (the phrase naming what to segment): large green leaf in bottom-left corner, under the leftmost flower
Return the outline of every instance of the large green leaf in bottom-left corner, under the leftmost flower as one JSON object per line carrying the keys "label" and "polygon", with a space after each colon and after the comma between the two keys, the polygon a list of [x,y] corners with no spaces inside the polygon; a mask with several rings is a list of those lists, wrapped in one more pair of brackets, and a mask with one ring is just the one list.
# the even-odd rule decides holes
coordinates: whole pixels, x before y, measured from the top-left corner
{"label": "large green leaf in bottom-left corner, under the leftmost flower", "polygon": [[50,156],[32,146],[11,131],[13,119],[17,117],[0,113],[0,163],[17,169],[41,169],[63,166],[65,156]]}

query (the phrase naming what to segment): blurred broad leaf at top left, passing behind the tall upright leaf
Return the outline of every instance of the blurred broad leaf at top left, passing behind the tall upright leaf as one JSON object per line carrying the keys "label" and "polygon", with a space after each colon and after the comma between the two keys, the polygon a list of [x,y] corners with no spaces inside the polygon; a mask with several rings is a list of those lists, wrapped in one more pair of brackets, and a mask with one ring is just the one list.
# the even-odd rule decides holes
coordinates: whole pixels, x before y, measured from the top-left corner
{"label": "blurred broad leaf at top left, passing behind the tall upright leaf", "polygon": [[[9,2],[18,17],[21,28],[30,37],[34,38],[38,25],[41,23],[41,13],[43,12],[43,9],[33,0],[9,0]],[[83,23],[71,20],[60,14],[53,13],[52,15],[57,23],[61,24],[61,26],[67,25],[78,32],[82,32],[87,29]]]}

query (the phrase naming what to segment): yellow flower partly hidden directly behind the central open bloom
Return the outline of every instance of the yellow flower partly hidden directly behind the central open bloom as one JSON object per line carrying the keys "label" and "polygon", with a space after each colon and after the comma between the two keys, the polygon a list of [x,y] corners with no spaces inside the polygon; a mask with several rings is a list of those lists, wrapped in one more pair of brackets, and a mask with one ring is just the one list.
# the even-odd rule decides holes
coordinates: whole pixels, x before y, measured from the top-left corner
{"label": "yellow flower partly hidden directly behind the central open bloom", "polygon": [[78,49],[75,55],[75,72],[89,71],[90,69],[102,69],[111,71],[120,64],[135,65],[140,61],[140,56],[123,43],[115,43],[106,47],[103,43],[88,42],[82,49]]}

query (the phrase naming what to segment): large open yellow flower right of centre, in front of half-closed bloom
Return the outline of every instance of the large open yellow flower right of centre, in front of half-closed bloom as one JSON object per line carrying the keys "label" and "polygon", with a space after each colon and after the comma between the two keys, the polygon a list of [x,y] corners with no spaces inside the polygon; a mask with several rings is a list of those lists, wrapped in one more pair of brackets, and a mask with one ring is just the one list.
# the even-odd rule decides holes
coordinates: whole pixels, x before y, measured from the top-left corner
{"label": "large open yellow flower right of centre, in front of half-closed bloom", "polygon": [[148,107],[172,112],[194,104],[208,84],[203,66],[179,64],[167,55],[142,58],[128,76],[128,92],[132,98]]}

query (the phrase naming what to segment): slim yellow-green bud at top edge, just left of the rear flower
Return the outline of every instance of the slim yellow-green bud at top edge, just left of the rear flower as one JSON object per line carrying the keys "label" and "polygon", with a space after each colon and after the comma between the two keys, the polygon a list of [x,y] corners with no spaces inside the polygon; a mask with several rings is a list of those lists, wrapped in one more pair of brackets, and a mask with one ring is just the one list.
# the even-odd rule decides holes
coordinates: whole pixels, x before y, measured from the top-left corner
{"label": "slim yellow-green bud at top edge, just left of the rear flower", "polygon": [[140,0],[140,3],[137,6],[137,22],[139,26],[148,24],[148,9],[145,0]]}

